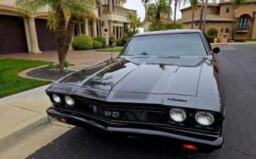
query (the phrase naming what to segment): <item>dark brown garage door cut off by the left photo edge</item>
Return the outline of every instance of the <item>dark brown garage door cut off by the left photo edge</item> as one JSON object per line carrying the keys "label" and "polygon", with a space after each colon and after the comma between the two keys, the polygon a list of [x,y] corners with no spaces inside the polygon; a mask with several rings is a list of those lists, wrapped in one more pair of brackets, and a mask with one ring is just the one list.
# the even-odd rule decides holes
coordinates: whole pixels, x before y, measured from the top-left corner
{"label": "dark brown garage door cut off by the left photo edge", "polygon": [[0,15],[0,54],[28,53],[22,17]]}

